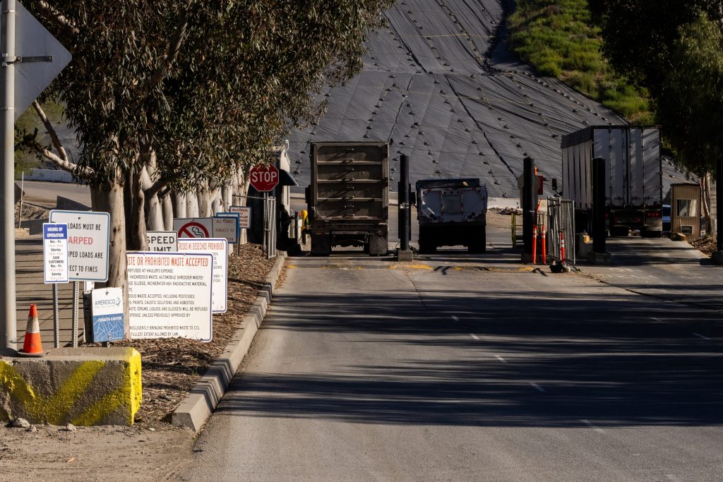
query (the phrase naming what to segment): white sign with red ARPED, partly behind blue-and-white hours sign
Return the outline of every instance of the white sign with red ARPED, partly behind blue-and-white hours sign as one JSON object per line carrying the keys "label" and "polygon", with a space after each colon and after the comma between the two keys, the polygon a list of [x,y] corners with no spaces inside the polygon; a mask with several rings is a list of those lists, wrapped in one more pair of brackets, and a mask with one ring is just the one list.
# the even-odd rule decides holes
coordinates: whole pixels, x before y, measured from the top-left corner
{"label": "white sign with red ARPED, partly behind blue-and-white hours sign", "polygon": [[108,281],[111,215],[107,212],[50,212],[51,223],[68,225],[68,279]]}

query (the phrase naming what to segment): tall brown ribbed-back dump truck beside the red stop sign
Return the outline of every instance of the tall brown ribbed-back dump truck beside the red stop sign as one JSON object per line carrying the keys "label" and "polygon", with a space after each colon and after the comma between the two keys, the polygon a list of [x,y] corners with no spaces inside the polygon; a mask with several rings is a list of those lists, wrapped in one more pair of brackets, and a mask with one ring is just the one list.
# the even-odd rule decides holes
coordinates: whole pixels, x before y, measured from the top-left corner
{"label": "tall brown ribbed-back dump truck beside the red stop sign", "polygon": [[388,251],[389,145],[386,142],[314,142],[306,201],[312,255],[334,246]]}

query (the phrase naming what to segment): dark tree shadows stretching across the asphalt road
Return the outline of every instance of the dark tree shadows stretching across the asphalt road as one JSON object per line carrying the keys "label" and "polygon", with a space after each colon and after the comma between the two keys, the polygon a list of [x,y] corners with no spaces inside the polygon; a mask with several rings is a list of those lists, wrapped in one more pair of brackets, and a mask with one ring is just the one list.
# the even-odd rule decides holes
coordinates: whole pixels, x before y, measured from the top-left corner
{"label": "dark tree shadows stretching across the asphalt road", "polygon": [[[244,372],[218,412],[401,425],[723,423],[722,346],[692,335],[723,336],[716,314],[609,292],[534,299],[440,289],[424,304],[401,292],[309,298],[275,298],[263,329],[319,332],[362,355],[314,371]],[[372,349],[380,343],[390,350]],[[392,345],[429,356],[398,359],[419,350]]]}

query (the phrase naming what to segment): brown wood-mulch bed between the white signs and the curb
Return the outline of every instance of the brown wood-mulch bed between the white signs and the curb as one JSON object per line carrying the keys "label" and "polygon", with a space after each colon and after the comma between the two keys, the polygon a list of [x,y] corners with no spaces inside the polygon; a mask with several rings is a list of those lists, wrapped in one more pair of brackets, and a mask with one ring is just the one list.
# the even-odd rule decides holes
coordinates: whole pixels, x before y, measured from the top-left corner
{"label": "brown wood-mulch bed between the white signs and the curb", "polygon": [[257,244],[241,245],[241,255],[228,259],[228,311],[213,316],[210,342],[159,338],[113,344],[133,347],[141,354],[143,401],[136,416],[140,426],[171,422],[173,411],[239,329],[274,263],[275,258],[266,259]]}

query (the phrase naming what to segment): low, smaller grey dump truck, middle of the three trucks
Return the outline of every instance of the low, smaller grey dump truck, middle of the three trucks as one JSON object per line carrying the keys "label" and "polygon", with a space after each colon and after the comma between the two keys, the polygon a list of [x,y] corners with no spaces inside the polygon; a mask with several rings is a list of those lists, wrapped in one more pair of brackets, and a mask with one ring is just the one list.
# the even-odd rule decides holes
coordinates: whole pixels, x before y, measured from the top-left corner
{"label": "low, smaller grey dump truck, middle of the three trucks", "polygon": [[487,187],[476,178],[416,181],[419,251],[466,246],[483,253],[487,243]]}

